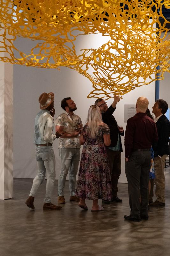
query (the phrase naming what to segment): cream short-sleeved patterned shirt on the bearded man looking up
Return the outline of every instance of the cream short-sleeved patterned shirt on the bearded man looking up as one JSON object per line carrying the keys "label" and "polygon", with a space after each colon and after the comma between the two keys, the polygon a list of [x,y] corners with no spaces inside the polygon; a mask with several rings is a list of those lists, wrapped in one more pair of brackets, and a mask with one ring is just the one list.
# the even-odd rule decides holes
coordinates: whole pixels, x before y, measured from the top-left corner
{"label": "cream short-sleeved patterned shirt on the bearded man looking up", "polygon": [[[55,119],[55,125],[63,126],[64,132],[73,132],[76,124],[82,124],[81,118],[73,113],[72,118],[69,113],[64,112]],[[80,148],[80,135],[75,138],[59,138],[59,148]]]}

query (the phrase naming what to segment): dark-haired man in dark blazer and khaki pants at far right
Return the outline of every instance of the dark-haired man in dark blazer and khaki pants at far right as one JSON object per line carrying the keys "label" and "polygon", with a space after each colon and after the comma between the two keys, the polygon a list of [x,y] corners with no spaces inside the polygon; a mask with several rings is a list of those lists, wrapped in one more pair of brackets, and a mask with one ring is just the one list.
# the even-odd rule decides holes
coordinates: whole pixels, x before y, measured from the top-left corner
{"label": "dark-haired man in dark blazer and khaki pants at far right", "polygon": [[164,115],[168,109],[168,104],[165,100],[156,100],[152,107],[152,113],[155,115],[154,122],[156,123],[159,140],[156,145],[152,145],[154,150],[154,166],[155,166],[155,196],[156,201],[153,202],[153,187],[154,181],[151,180],[151,192],[149,195],[150,206],[165,205],[165,175],[164,168],[166,157],[169,155],[169,136],[170,136],[170,122]]}

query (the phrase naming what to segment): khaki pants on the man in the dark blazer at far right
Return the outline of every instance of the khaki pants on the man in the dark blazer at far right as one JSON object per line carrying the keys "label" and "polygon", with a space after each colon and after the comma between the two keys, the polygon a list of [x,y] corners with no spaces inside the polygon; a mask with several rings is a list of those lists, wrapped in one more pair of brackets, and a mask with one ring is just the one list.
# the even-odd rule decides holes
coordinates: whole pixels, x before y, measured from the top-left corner
{"label": "khaki pants on the man in the dark blazer at far right", "polygon": [[[165,203],[165,175],[164,175],[164,168],[165,168],[165,161],[167,155],[163,155],[161,158],[156,156],[154,158],[154,167],[155,167],[155,196],[157,197],[157,201],[161,203]],[[154,180],[151,180],[151,192],[149,196],[149,201],[152,201],[153,197],[153,187],[154,187]]]}

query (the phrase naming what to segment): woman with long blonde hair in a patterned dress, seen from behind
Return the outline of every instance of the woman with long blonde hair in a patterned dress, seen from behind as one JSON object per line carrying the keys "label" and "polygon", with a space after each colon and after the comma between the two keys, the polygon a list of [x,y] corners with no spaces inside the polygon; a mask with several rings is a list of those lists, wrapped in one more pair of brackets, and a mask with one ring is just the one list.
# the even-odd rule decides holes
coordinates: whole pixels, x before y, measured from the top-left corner
{"label": "woman with long blonde hair in a patterned dress, seen from behind", "polygon": [[112,188],[106,147],[109,146],[110,132],[107,124],[102,122],[100,108],[89,108],[87,123],[80,135],[83,146],[80,169],[78,173],[76,195],[80,198],[79,207],[88,209],[85,199],[93,200],[92,212],[102,211],[98,200],[111,200]]}

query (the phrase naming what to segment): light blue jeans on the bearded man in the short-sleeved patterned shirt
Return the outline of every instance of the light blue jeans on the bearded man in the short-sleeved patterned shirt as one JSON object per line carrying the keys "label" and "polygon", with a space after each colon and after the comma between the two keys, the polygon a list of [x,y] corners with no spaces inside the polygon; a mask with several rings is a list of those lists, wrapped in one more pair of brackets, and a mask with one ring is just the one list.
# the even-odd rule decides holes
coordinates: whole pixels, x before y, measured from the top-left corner
{"label": "light blue jeans on the bearded man in the short-sleeved patterned shirt", "polygon": [[61,172],[58,179],[58,196],[64,196],[64,186],[68,171],[70,196],[75,196],[80,148],[60,148],[59,156],[61,158]]}

